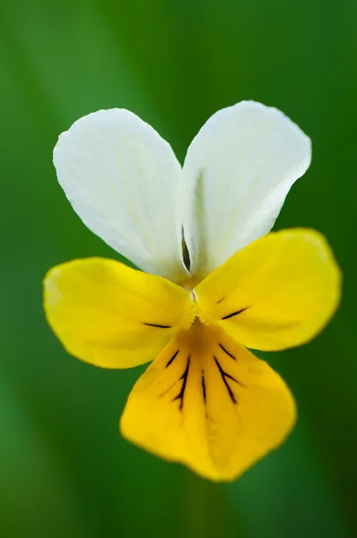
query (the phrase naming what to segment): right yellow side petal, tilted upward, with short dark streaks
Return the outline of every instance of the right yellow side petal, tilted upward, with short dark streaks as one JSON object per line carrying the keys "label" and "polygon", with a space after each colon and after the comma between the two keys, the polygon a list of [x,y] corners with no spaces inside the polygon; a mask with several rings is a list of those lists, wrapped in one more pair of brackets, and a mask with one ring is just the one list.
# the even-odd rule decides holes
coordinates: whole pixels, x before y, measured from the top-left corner
{"label": "right yellow side petal, tilted upward, with short dark streaks", "polygon": [[202,318],[239,343],[282,350],[309,341],[335,313],[341,274],[315,230],[273,232],[240,250],[196,287]]}

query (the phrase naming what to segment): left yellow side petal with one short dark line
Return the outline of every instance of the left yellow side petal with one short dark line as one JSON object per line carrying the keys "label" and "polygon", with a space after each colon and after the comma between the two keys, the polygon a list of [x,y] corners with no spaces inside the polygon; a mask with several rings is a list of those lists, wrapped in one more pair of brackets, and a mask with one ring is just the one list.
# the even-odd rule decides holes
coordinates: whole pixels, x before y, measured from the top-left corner
{"label": "left yellow side petal with one short dark line", "polygon": [[187,291],[114,260],[57,265],[44,288],[48,323],[65,349],[102,368],[152,360],[179,326],[190,325]]}

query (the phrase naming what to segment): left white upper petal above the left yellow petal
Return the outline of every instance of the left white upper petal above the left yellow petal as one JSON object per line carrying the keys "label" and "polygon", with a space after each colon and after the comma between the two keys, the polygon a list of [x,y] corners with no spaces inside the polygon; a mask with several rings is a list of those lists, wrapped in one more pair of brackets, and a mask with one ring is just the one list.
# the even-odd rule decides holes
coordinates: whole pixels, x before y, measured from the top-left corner
{"label": "left white upper petal above the left yellow petal", "polygon": [[181,261],[178,189],[170,144],[135,114],[82,117],[59,137],[58,181],[84,224],[148,273],[187,276]]}

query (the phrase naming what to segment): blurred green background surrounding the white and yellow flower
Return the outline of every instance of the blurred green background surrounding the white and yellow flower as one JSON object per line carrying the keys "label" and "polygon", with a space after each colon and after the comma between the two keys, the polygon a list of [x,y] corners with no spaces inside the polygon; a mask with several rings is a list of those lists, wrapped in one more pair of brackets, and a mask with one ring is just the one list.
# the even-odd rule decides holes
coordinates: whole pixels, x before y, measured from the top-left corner
{"label": "blurred green background surrounding the white and yellow flower", "polygon": [[[357,536],[355,0],[7,0],[0,6],[0,535]],[[52,149],[75,119],[129,108],[188,143],[242,99],[311,136],[309,172],[276,228],[323,231],[343,304],[313,343],[270,354],[300,409],[286,444],[238,482],[212,484],[132,447],[118,417],[143,368],[67,355],[41,306],[51,265],[118,256],[57,185]]]}

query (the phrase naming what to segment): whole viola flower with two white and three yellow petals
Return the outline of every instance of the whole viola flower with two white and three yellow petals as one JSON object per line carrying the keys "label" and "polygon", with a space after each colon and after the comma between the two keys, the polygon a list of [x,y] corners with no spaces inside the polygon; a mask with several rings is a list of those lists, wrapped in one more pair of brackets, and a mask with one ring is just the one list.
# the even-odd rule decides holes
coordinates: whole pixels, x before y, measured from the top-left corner
{"label": "whole viola flower with two white and three yellow petals", "polygon": [[309,341],[339,301],[340,272],[317,231],[267,234],[310,155],[298,126],[252,101],[214,114],[183,169],[124,109],[79,119],[55,148],[74,211],[143,271],[101,258],[57,265],[45,279],[48,323],[96,366],[153,360],[122,434],[213,481],[237,478],[296,419],[283,379],[247,348]]}

